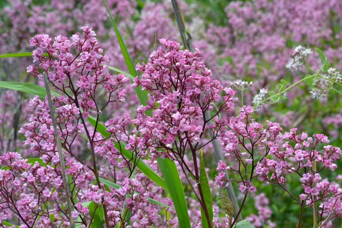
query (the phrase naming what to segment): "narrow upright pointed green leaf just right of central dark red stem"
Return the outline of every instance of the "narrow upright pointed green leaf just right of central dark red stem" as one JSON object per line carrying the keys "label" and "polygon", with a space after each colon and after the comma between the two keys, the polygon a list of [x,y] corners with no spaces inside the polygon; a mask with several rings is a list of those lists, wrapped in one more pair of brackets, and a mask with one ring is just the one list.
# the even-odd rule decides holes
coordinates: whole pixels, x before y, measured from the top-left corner
{"label": "narrow upright pointed green leaf just right of central dark red stem", "polygon": [[[209,219],[211,223],[211,227],[213,227],[213,205],[212,205],[212,198],[211,198],[211,192],[210,192],[210,187],[209,187],[209,182],[207,178],[207,173],[206,169],[204,167],[204,162],[203,162],[203,151],[201,150],[201,166],[200,166],[200,175],[199,175],[199,181],[201,185],[201,189],[203,192],[203,197],[204,197],[204,202],[206,203],[207,209],[208,209],[208,214],[209,214]],[[202,217],[202,227],[207,228],[208,226],[208,220],[206,218],[205,212],[203,208],[201,207],[201,217]]]}

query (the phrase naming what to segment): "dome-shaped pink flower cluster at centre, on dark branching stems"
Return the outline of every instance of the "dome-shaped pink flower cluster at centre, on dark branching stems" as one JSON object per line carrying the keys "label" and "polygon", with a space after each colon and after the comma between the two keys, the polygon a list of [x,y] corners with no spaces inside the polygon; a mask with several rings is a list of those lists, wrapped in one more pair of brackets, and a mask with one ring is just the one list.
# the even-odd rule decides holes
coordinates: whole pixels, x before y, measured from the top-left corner
{"label": "dome-shaped pink flower cluster at centre, on dark branching stems", "polygon": [[[136,69],[144,73],[141,79],[136,77],[133,84],[133,87],[142,86],[143,90],[153,92],[147,106],[139,107],[133,122],[140,126],[138,130],[144,135],[145,146],[150,147],[155,156],[173,151],[171,145],[176,138],[197,143],[197,147],[207,128],[216,133],[219,128],[215,124],[207,127],[206,123],[221,111],[231,111],[237,100],[234,90],[223,89],[220,82],[211,77],[198,49],[192,53],[180,50],[180,44],[174,41],[159,41],[165,49],[159,47],[154,51],[147,65],[137,65]],[[226,93],[224,102],[211,119],[206,119],[205,112],[213,110],[222,90]],[[145,114],[149,110],[153,110],[152,117]]]}

